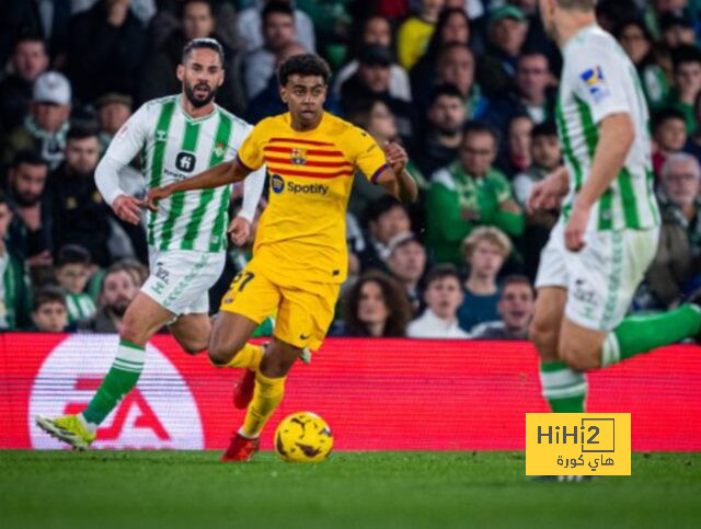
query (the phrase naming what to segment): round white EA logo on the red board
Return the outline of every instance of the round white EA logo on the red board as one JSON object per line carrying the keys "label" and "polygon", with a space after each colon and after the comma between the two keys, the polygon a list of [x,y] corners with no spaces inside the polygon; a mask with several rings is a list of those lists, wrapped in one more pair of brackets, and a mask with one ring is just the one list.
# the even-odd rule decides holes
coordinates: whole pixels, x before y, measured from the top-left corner
{"label": "round white EA logo on the red board", "polygon": [[[77,334],[49,353],[30,395],[33,448],[66,448],[42,432],[34,417],[82,411],[108,371],[116,350],[114,335]],[[165,355],[149,345],[137,387],[107,415],[92,447],[199,450],[204,448],[204,438],[199,412],[187,383]]]}

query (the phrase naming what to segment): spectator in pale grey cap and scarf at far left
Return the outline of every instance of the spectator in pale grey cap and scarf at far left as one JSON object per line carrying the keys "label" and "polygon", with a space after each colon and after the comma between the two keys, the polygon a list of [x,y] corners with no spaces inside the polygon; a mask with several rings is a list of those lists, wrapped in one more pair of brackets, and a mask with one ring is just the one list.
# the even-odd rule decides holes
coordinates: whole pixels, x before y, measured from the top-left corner
{"label": "spectator in pale grey cap and scarf at far left", "polygon": [[71,111],[71,87],[57,71],[42,73],[32,89],[30,114],[10,131],[2,161],[10,163],[25,149],[36,150],[51,169],[64,160]]}

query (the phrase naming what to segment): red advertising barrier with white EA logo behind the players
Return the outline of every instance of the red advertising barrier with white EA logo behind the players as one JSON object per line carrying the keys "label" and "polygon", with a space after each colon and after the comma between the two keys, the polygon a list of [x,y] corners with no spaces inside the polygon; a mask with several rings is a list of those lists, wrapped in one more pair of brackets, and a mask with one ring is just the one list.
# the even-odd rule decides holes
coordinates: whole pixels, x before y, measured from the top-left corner
{"label": "red advertising barrier with white EA logo behind the players", "polygon": [[[108,369],[110,335],[0,335],[0,448],[58,448],[37,414],[80,411]],[[147,352],[137,390],[107,417],[96,448],[223,448],[242,412],[238,372],[187,356],[170,336]],[[701,450],[701,350],[676,346],[589,376],[588,411],[630,412],[633,450]],[[297,365],[263,434],[286,414],[322,415],[342,450],[524,449],[526,412],[545,412],[526,343],[327,340]]]}

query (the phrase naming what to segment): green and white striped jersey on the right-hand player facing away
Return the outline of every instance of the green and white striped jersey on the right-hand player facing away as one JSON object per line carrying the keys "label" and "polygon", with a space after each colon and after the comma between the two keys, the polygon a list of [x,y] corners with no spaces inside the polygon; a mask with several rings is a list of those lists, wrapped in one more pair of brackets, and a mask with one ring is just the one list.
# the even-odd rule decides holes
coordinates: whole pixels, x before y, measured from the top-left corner
{"label": "green and white striped jersey on the right-hand player facing away", "polygon": [[627,113],[635,128],[633,146],[618,177],[593,207],[587,231],[658,226],[650,114],[635,67],[616,39],[596,24],[567,42],[563,58],[555,118],[571,179],[564,217],[589,177],[598,124],[611,114]]}

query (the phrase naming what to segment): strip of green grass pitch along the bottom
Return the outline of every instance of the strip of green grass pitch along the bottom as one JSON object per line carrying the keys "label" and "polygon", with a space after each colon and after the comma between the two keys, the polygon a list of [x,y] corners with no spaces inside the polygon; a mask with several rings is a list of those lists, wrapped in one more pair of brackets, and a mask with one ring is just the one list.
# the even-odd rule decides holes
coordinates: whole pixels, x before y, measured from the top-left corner
{"label": "strip of green grass pitch along the bottom", "polygon": [[632,476],[532,483],[522,452],[0,450],[4,528],[699,527],[701,453],[633,455]]}

